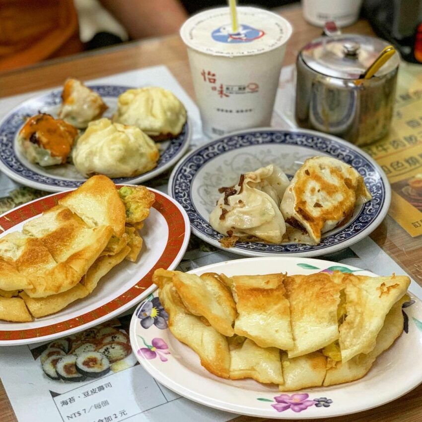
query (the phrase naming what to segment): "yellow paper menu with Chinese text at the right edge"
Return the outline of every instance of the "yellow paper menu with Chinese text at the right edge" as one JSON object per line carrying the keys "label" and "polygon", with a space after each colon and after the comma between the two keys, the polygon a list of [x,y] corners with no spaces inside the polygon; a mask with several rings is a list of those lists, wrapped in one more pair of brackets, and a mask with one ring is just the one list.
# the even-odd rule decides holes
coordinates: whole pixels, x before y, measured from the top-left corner
{"label": "yellow paper menu with Chinese text at the right edge", "polygon": [[401,63],[389,134],[362,148],[391,183],[389,214],[412,237],[422,235],[422,72]]}

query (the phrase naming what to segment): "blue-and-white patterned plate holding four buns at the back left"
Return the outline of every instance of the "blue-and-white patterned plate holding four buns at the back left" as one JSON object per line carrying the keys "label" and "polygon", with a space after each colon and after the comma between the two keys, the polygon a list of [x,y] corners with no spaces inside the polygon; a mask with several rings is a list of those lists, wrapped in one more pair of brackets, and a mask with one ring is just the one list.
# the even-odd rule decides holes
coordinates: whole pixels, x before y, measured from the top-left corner
{"label": "blue-and-white patterned plate holding four buns at the back left", "polygon": [[[116,111],[117,97],[132,88],[118,85],[89,86],[103,98],[109,107],[104,117],[111,118]],[[61,104],[62,89],[29,99],[13,109],[0,122],[0,170],[10,179],[36,189],[60,192],[74,189],[86,179],[71,164],[43,168],[30,163],[21,153],[17,143],[17,134],[25,119],[38,113],[48,113],[57,117]],[[189,121],[182,133],[170,141],[160,143],[160,158],[157,167],[133,178],[114,179],[116,183],[141,183],[158,176],[177,163],[187,150],[191,137]]]}

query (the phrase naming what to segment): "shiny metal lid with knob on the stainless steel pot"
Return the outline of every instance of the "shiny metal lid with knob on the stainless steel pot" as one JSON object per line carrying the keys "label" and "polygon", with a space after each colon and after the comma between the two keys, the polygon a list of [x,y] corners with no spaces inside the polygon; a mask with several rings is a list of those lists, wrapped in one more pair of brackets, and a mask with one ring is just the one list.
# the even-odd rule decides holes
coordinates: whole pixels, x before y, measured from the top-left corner
{"label": "shiny metal lid with knob on the stainless steel pot", "polygon": [[[359,79],[387,46],[388,43],[380,38],[352,34],[330,35],[306,45],[300,56],[317,73],[342,79]],[[390,73],[398,67],[399,62],[399,55],[395,53],[374,76],[381,77]]]}

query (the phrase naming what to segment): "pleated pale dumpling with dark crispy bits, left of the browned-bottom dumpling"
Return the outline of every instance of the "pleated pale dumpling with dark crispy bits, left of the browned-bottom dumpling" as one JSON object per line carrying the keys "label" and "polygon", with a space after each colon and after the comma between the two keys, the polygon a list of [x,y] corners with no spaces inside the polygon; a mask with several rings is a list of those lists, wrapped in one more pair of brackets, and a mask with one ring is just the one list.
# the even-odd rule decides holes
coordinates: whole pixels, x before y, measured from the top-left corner
{"label": "pleated pale dumpling with dark crispy bits, left of the browned-bottom dumpling", "polygon": [[211,226],[228,237],[280,243],[286,228],[279,206],[288,183],[274,164],[241,175],[238,184],[222,192],[211,211]]}

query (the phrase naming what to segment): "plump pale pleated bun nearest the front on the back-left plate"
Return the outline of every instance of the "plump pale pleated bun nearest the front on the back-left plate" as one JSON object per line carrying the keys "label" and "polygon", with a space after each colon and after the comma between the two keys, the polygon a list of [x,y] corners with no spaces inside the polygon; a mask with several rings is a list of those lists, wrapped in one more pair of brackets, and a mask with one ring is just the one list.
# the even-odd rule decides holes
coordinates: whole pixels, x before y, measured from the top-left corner
{"label": "plump pale pleated bun nearest the front on the back-left plate", "polygon": [[85,177],[134,177],[157,165],[155,142],[135,126],[91,121],[73,149],[73,163]]}

